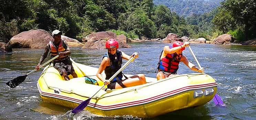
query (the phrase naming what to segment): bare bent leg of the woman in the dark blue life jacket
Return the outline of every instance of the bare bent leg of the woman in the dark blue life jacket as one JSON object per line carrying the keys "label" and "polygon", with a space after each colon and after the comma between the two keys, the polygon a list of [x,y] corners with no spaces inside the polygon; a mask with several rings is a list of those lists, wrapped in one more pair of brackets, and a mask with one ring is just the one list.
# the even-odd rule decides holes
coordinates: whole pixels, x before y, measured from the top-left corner
{"label": "bare bent leg of the woman in the dark blue life jacket", "polygon": [[[134,75],[122,81],[122,84],[124,84],[126,87],[142,85],[146,83],[147,83],[146,78],[145,78],[145,75],[143,74]],[[122,87],[117,83],[115,89],[118,89],[118,88],[122,88]]]}

